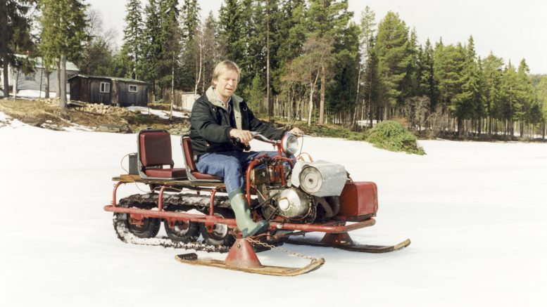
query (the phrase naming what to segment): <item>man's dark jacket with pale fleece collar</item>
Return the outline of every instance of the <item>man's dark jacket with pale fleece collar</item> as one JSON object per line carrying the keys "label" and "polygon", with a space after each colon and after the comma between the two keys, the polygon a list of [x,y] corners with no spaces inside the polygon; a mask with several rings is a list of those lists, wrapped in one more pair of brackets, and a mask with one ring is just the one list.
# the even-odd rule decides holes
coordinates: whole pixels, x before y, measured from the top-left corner
{"label": "man's dark jacket with pale fleece collar", "polygon": [[194,155],[199,156],[206,152],[243,151],[241,146],[234,145],[230,138],[230,130],[234,128],[258,131],[266,138],[274,140],[283,137],[284,129],[274,129],[269,124],[261,122],[241,97],[233,95],[232,105],[237,127],[230,126],[230,114],[216,98],[212,87],[207,90],[206,95],[196,100],[190,117],[190,139]]}

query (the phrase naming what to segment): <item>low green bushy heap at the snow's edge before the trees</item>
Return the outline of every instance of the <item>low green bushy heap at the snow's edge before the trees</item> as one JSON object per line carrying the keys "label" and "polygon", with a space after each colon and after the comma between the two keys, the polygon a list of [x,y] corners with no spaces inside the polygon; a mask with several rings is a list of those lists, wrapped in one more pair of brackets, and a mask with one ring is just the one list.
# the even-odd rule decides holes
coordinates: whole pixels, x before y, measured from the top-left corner
{"label": "low green bushy heap at the snow's edge before the trees", "polygon": [[366,141],[385,150],[425,155],[423,148],[418,147],[416,137],[398,122],[380,122],[367,131]]}

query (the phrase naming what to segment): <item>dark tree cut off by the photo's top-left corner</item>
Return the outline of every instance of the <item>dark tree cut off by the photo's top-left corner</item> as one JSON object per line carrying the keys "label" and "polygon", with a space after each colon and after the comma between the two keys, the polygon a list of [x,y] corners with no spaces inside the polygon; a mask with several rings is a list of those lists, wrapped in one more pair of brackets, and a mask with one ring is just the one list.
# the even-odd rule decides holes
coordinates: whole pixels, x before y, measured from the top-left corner
{"label": "dark tree cut off by the photo's top-left corner", "polygon": [[[4,97],[9,97],[8,65],[16,70],[23,66],[23,59],[15,53],[27,54],[34,48],[30,35],[30,18],[27,16],[33,0],[0,1],[0,67],[4,80]],[[15,94],[15,93],[14,93]]]}

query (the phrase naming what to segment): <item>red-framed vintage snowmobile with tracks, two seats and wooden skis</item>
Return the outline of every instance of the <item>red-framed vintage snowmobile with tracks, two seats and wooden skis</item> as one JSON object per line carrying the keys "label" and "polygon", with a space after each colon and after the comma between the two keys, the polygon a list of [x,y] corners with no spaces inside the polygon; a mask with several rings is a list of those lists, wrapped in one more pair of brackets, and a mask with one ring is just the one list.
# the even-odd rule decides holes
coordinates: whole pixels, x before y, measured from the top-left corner
{"label": "red-framed vintage snowmobile with tracks, two seats and wooden skis", "polygon": [[[196,169],[191,143],[181,138],[185,168],[173,168],[168,131],[147,129],[137,135],[137,153],[129,155],[129,174],[117,182],[111,204],[113,224],[120,240],[135,244],[158,244],[208,252],[228,252],[225,261],[198,259],[196,254],[175,256],[177,261],[267,275],[299,275],[315,270],[324,259],[310,259],[302,268],[263,266],[256,252],[284,243],[334,247],[355,252],[384,253],[402,249],[410,240],[389,246],[357,244],[348,232],[375,224],[377,186],[351,180],[344,166],[325,161],[289,159],[301,150],[299,138],[287,133],[281,141],[260,134],[277,156],[256,157],[246,169],[246,197],[253,218],[270,223],[267,233],[243,238],[225,195],[222,178]],[[235,141],[235,140],[234,140]],[[296,163],[295,163],[296,161]],[[167,166],[167,167],[166,167]],[[117,200],[125,183],[144,183],[150,192]],[[156,238],[163,222],[167,237]],[[309,240],[306,233],[325,233],[322,240]],[[200,241],[199,237],[203,237]],[[296,254],[296,253],[291,253]],[[298,256],[298,255],[297,255]]]}

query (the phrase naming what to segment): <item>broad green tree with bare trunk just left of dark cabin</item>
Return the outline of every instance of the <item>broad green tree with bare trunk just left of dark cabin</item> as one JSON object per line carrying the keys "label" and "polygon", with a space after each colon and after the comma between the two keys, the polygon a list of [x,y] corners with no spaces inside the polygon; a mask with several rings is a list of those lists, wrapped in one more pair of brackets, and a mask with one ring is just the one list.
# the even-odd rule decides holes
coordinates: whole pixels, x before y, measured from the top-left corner
{"label": "broad green tree with bare trunk just left of dark cabin", "polygon": [[66,61],[80,58],[85,40],[87,6],[80,0],[40,0],[42,52],[46,65],[56,61],[59,104],[66,107]]}

